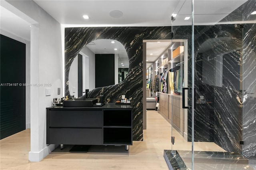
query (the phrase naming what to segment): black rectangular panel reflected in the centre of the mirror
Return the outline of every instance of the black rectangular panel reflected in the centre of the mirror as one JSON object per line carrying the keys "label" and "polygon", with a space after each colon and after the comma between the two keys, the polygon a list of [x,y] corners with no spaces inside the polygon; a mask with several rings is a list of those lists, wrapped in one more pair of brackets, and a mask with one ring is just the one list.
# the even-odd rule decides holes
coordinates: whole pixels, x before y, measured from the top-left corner
{"label": "black rectangular panel reflected in the centre of the mirror", "polygon": [[95,54],[95,87],[115,84],[115,55]]}

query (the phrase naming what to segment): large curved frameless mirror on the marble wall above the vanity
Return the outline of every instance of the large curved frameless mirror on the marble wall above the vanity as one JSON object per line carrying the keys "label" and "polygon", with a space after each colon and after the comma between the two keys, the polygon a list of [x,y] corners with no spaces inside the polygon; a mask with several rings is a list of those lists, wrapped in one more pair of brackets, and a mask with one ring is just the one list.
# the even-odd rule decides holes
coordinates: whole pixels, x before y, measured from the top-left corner
{"label": "large curved frameless mirror on the marble wall above the vanity", "polygon": [[[111,39],[100,39],[88,43],[74,58],[68,75],[68,89],[70,95],[78,98],[85,95],[85,89],[95,89],[95,81],[100,79],[95,75],[96,54],[113,54],[114,56],[114,82],[113,85],[123,81],[128,73],[129,59],[122,43]],[[104,68],[101,68],[104,71]],[[97,77],[97,78],[96,78]],[[82,92],[82,93],[81,93]]]}

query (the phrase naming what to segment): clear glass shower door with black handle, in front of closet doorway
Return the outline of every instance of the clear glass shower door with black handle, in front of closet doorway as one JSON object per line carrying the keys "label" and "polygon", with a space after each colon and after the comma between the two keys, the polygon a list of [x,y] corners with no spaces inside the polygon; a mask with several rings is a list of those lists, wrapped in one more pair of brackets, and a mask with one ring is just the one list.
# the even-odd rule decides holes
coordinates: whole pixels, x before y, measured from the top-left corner
{"label": "clear glass shower door with black handle, in front of closet doorway", "polygon": [[[192,167],[192,1],[179,1],[172,13],[172,57],[169,63],[173,168]],[[185,19],[185,20],[184,20]],[[178,55],[177,55],[178,54]]]}

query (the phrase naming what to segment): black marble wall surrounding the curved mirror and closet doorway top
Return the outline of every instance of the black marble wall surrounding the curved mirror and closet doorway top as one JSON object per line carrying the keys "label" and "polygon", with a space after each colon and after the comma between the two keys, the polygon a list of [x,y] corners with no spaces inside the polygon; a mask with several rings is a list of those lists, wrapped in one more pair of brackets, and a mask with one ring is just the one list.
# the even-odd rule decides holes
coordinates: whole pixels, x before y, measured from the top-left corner
{"label": "black marble wall surrounding the curved mirror and closet doorway top", "polygon": [[112,39],[122,43],[129,58],[126,79],[117,85],[98,87],[89,91],[88,97],[103,93],[104,101],[113,103],[121,95],[131,98],[133,110],[133,140],[143,140],[142,116],[142,41],[170,39],[171,27],[90,27],[65,28],[65,95],[68,91],[68,73],[74,57],[88,43],[98,39]]}

